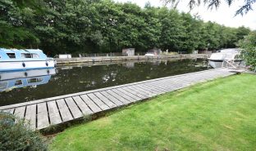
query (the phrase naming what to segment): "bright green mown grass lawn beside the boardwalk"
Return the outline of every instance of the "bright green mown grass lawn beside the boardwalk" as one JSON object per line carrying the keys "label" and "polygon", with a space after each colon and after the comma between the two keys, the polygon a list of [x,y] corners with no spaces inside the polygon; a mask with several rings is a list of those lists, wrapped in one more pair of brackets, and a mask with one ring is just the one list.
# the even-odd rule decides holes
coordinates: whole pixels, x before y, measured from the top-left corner
{"label": "bright green mown grass lawn beside the boardwalk", "polygon": [[205,82],[58,134],[51,150],[256,150],[256,76]]}

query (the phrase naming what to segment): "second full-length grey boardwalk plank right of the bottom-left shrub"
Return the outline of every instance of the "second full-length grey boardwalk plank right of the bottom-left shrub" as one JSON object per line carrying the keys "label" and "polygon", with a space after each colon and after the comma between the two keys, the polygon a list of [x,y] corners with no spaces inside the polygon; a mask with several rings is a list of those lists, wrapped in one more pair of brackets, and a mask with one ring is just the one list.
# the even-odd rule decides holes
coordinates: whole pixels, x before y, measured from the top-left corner
{"label": "second full-length grey boardwalk plank right of the bottom-left shrub", "polygon": [[59,110],[57,109],[57,104],[55,100],[48,101],[48,113],[51,125],[59,124],[62,122],[61,115],[59,113]]}

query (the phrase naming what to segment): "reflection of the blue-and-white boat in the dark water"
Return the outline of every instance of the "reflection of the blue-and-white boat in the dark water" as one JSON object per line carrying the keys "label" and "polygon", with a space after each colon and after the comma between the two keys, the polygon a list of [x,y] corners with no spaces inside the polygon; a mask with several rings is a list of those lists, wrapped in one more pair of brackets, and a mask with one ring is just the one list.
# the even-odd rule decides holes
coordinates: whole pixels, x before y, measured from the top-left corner
{"label": "reflection of the blue-and-white boat in the dark water", "polygon": [[0,73],[0,92],[21,87],[37,87],[48,83],[54,74],[56,74],[55,69],[31,69]]}

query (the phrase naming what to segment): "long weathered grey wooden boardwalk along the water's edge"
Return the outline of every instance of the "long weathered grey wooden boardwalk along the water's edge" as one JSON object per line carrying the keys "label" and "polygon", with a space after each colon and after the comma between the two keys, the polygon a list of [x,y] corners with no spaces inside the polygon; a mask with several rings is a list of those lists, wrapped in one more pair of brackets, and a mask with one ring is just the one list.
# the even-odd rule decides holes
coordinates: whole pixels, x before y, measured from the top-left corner
{"label": "long weathered grey wooden boardwalk along the water's edge", "polygon": [[30,120],[30,127],[34,130],[40,130],[51,125],[82,118],[84,115],[115,109],[139,100],[148,99],[154,95],[175,91],[194,83],[226,77],[231,74],[235,73],[231,72],[230,69],[212,69],[197,73],[186,73],[117,87],[11,104],[0,107],[0,110]]}

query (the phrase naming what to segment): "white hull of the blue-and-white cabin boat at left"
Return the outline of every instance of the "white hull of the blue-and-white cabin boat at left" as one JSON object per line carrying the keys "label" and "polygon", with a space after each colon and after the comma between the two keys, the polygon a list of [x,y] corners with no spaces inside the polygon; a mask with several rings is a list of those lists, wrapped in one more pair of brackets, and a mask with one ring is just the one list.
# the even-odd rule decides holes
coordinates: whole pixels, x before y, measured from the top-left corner
{"label": "white hull of the blue-and-white cabin boat at left", "polygon": [[51,69],[54,67],[54,60],[21,60],[0,62],[0,72],[19,71],[27,69]]}

